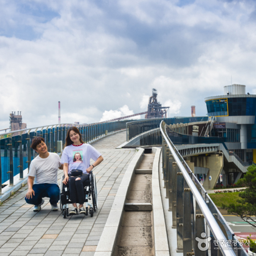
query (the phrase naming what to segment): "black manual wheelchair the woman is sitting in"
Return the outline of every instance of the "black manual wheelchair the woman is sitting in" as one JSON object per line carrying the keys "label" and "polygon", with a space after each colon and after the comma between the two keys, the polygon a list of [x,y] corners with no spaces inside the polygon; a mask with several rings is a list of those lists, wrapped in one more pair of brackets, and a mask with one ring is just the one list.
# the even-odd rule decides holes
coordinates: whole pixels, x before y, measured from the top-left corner
{"label": "black manual wheelchair the woman is sitting in", "polygon": [[[98,209],[98,198],[97,198],[97,185],[96,177],[91,172],[89,174],[89,180],[84,187],[84,202],[86,205],[86,213],[88,215],[88,206],[90,206],[90,216],[93,217],[93,213]],[[71,204],[69,199],[69,187],[63,183],[65,176],[63,175],[60,181],[60,210],[62,211],[63,218],[69,216],[68,204]],[[88,199],[92,199],[92,203],[88,202]]]}

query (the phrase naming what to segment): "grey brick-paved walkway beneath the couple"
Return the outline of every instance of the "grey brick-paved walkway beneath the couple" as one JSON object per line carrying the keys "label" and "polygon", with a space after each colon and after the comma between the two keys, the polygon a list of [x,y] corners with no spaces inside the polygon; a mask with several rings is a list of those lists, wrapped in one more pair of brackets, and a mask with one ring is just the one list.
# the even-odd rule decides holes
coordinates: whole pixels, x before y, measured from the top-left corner
{"label": "grey brick-paved walkway beneath the couple", "polygon": [[[120,132],[92,144],[104,158],[94,170],[99,208],[92,218],[63,219],[60,210],[50,211],[49,200],[40,212],[33,212],[33,206],[24,200],[27,185],[6,200],[0,206],[0,256],[94,255],[117,189],[136,153],[135,149],[115,149],[125,139],[126,132]],[[59,180],[62,175],[59,170]]]}

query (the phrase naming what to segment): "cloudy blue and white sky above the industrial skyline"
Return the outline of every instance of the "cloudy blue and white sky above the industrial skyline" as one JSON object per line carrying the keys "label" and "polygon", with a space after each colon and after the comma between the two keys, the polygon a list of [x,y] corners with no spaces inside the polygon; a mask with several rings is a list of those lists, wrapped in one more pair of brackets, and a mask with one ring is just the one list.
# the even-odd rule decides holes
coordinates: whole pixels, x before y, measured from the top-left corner
{"label": "cloudy blue and white sky above the industrial skyline", "polygon": [[205,116],[226,85],[256,94],[255,67],[254,0],[0,0],[0,129],[57,124],[58,101],[61,123],[144,112],[153,88]]}

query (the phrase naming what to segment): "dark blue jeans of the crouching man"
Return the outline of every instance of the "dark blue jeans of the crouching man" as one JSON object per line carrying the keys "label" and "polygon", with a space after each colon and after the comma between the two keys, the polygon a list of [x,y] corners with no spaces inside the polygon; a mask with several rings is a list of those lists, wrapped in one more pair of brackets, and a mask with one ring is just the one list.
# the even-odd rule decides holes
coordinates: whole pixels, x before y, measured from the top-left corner
{"label": "dark blue jeans of the crouching man", "polygon": [[57,184],[34,184],[33,190],[35,191],[35,195],[32,198],[25,200],[28,204],[38,205],[42,202],[43,197],[50,197],[50,204],[57,204],[60,199],[60,188]]}

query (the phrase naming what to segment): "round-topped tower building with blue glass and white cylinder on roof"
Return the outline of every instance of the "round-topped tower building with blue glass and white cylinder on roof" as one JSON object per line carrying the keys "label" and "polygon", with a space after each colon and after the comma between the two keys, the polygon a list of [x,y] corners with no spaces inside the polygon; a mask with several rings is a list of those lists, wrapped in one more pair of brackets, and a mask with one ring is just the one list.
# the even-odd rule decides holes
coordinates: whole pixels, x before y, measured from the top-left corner
{"label": "round-topped tower building with blue glass and white cylinder on roof", "polygon": [[217,117],[212,136],[227,138],[228,150],[256,163],[256,95],[246,93],[245,85],[232,84],[224,87],[224,95],[204,100],[208,116]]}

